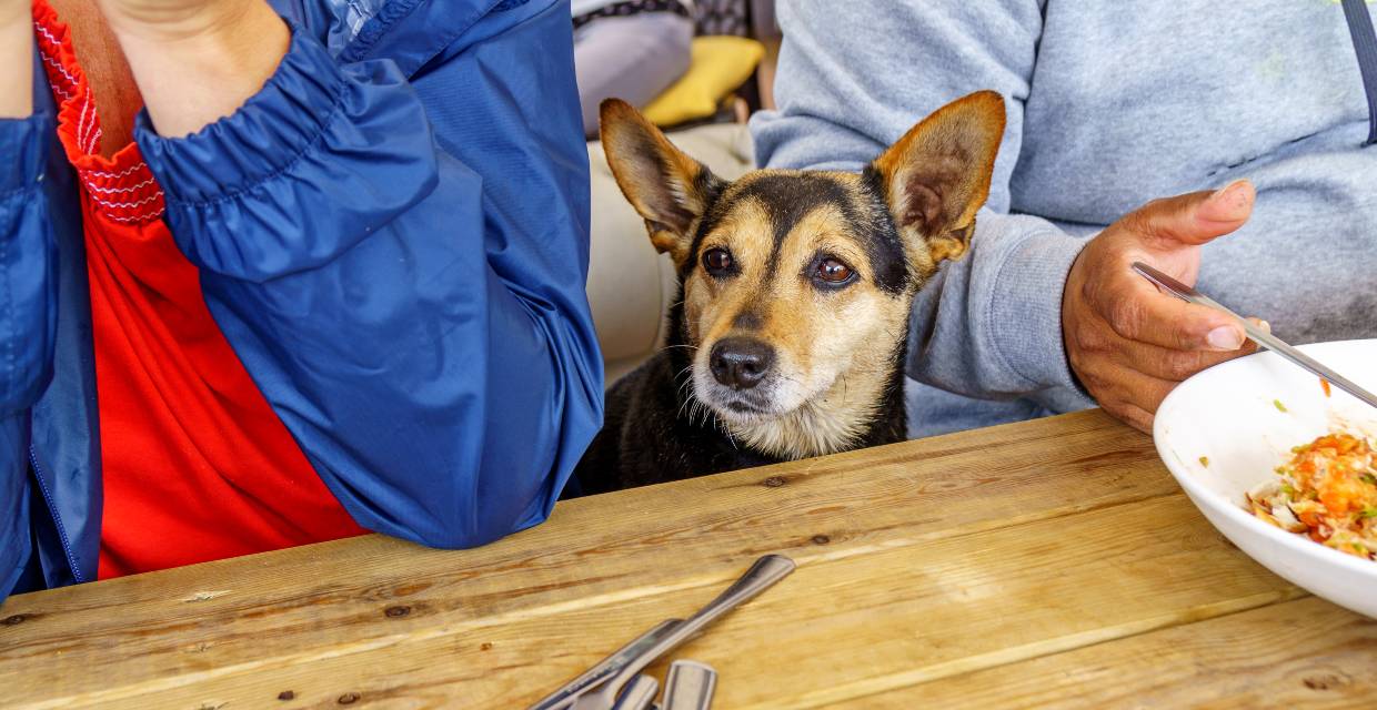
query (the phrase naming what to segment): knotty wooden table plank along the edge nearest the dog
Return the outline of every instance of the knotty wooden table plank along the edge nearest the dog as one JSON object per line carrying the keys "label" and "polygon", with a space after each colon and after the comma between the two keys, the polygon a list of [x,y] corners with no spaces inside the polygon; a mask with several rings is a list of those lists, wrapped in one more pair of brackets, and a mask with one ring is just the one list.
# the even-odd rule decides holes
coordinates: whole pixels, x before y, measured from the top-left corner
{"label": "knotty wooden table plank along the edge nearest the dog", "polygon": [[863,556],[1175,490],[1151,442],[1100,413],[909,442],[571,501],[478,550],[369,537],[14,597],[0,616],[22,622],[0,626],[0,687],[39,699],[114,677],[138,685],[492,619],[711,596],[767,550],[804,563]]}

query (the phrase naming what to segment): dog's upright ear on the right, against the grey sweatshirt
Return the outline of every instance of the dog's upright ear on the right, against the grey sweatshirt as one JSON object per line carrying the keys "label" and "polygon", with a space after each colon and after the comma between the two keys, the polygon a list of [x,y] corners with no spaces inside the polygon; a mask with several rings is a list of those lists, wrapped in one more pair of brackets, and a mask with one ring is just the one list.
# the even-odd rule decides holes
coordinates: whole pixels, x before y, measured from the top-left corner
{"label": "dog's upright ear on the right, against the grey sweatshirt", "polygon": [[979,91],[938,109],[876,158],[870,169],[906,244],[925,241],[934,263],[965,253],[1002,139],[1004,99]]}

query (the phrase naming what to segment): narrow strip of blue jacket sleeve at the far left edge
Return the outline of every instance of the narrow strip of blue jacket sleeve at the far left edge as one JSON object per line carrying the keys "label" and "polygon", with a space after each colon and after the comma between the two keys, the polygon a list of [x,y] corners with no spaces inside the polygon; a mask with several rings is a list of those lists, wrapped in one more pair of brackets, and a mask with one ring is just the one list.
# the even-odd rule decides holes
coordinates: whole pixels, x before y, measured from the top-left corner
{"label": "narrow strip of blue jacket sleeve at the far left edge", "polygon": [[29,559],[29,407],[52,377],[56,257],[43,168],[52,117],[0,120],[0,601]]}

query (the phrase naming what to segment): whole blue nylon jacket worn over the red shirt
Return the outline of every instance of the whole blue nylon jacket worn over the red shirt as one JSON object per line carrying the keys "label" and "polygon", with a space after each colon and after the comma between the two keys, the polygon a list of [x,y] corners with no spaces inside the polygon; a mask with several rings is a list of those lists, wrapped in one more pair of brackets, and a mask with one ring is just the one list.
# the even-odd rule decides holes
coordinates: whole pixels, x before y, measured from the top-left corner
{"label": "whole blue nylon jacket worn over the red shirt", "polygon": [[[567,0],[271,0],[286,58],[185,139],[140,117],[211,314],[359,524],[439,548],[545,520],[602,424]],[[36,62],[39,65],[39,62]],[[77,182],[41,69],[0,121],[0,600],[95,578]]]}

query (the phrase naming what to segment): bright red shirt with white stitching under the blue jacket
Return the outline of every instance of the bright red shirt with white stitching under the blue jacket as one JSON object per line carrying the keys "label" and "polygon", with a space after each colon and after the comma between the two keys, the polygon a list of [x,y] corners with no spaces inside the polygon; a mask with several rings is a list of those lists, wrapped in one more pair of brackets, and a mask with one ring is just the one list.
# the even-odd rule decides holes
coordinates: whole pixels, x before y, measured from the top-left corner
{"label": "bright red shirt with white stitching under the blue jacket", "polygon": [[362,532],[215,325],[138,144],[101,154],[67,29],[45,0],[33,8],[58,136],[81,183],[105,472],[99,577]]}

